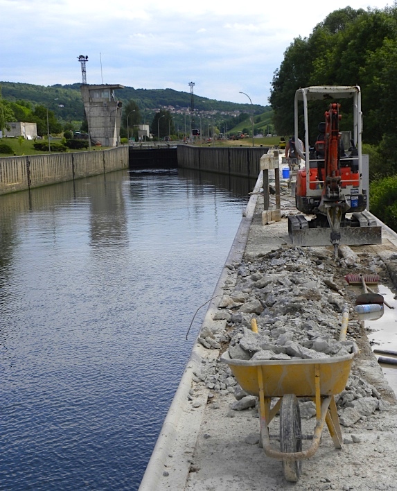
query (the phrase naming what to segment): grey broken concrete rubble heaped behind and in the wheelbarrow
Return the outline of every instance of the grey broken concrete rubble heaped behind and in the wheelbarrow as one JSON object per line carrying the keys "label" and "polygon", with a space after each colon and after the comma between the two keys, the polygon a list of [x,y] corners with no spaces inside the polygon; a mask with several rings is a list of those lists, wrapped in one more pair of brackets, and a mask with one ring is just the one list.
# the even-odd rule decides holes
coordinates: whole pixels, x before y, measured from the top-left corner
{"label": "grey broken concrete rubble heaped behind and in the wheelbarrow", "polygon": [[[342,311],[353,313],[353,305],[332,252],[288,247],[249,259],[228,265],[229,277],[214,316],[223,320],[224,329],[213,332],[204,327],[202,345],[224,345],[232,359],[242,360],[322,359],[357,350],[353,339],[339,341]],[[349,266],[354,267],[354,261],[358,259]],[[346,260],[342,266],[347,266]],[[382,267],[380,261],[376,267]],[[257,333],[251,328],[253,318]],[[350,334],[359,329],[359,320],[349,320]],[[223,363],[202,363],[196,380],[221,394],[236,393],[234,410],[256,406],[256,397],[242,391]],[[389,407],[376,388],[352,374],[335,399],[345,426]],[[314,403],[303,402],[301,411],[302,417],[315,415]]]}

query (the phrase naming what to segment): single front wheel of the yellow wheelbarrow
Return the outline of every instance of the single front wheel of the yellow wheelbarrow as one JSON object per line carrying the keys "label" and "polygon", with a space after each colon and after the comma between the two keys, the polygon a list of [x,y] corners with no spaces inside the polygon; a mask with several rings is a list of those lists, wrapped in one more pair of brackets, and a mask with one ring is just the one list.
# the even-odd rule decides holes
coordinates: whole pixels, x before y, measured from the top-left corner
{"label": "single front wheel of the yellow wheelbarrow", "polygon": [[[297,396],[283,396],[280,411],[280,444],[285,453],[302,450],[301,413]],[[291,483],[296,483],[301,475],[301,460],[283,460],[284,477]]]}

